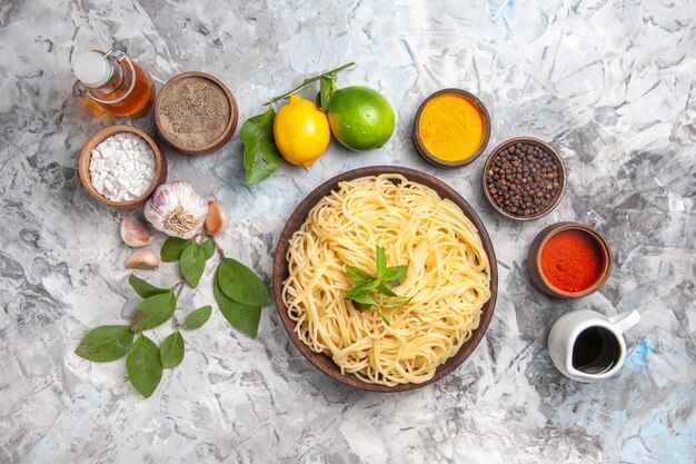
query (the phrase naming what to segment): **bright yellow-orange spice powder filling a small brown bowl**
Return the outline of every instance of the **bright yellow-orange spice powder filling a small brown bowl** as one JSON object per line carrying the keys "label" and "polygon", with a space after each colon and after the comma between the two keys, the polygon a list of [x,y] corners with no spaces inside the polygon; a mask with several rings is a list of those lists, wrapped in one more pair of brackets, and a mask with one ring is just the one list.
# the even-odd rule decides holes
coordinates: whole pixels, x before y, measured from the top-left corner
{"label": "bright yellow-orange spice powder filling a small brown bowl", "polygon": [[459,93],[428,101],[419,119],[422,144],[436,158],[460,161],[473,156],[484,141],[486,121],[480,109]]}

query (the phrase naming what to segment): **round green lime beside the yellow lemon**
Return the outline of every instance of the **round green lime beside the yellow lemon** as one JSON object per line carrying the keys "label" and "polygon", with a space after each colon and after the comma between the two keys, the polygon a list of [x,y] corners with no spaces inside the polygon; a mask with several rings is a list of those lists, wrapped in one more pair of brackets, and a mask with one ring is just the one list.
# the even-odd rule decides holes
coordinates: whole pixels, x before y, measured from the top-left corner
{"label": "round green lime beside the yellow lemon", "polygon": [[369,87],[345,87],[331,93],[329,126],[338,141],[351,150],[384,146],[394,132],[394,110],[377,90]]}

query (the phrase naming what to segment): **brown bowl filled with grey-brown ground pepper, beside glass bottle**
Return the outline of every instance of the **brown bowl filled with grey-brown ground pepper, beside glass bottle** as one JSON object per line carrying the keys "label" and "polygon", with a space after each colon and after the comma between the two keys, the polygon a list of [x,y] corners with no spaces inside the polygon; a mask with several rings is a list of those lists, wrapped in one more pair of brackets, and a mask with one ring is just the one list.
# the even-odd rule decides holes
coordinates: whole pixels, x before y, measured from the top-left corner
{"label": "brown bowl filled with grey-brown ground pepper, beside glass bottle", "polygon": [[183,72],[170,79],[155,101],[157,130],[188,155],[220,149],[237,129],[237,101],[229,89],[206,72]]}

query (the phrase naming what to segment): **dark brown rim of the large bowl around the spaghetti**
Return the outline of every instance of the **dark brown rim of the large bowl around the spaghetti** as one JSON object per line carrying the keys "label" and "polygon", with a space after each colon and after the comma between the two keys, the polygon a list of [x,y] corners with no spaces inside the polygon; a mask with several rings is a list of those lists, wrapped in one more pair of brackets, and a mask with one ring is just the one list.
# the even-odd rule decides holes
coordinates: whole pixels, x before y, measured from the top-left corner
{"label": "dark brown rim of the large bowl around the spaghetti", "polygon": [[[397,174],[407,177],[410,180],[418,181],[425,186],[428,186],[436,190],[441,198],[448,198],[454,201],[467,216],[471,223],[478,229],[479,237],[481,238],[483,247],[488,255],[488,260],[490,264],[490,299],[481,308],[481,317],[479,322],[479,326],[476,330],[474,330],[474,335],[469,340],[467,340],[459,351],[445,364],[438,366],[435,375],[427,382],[421,384],[400,384],[394,387],[385,386],[385,385],[376,385],[368,384],[360,381],[352,374],[341,374],[340,369],[334,362],[322,353],[312,352],[307,345],[305,345],[295,333],[295,323],[289,318],[287,308],[282,303],[282,282],[287,277],[288,273],[288,263],[286,261],[286,251],[288,249],[289,240],[292,234],[301,226],[302,223],[307,219],[307,214],[309,210],[326,195],[329,195],[331,190],[335,190],[338,187],[338,184],[346,180],[352,180],[360,177],[367,176],[378,176],[382,174]],[[292,344],[299,349],[299,352],[319,371],[329,377],[334,378],[337,382],[340,382],[345,385],[365,389],[369,392],[405,392],[415,388],[422,387],[425,385],[431,384],[434,382],[439,381],[445,377],[449,373],[451,373],[455,368],[457,368],[464,361],[466,361],[471,353],[476,349],[480,340],[484,338],[488,325],[493,318],[493,314],[496,306],[496,298],[498,293],[498,268],[496,254],[493,246],[493,241],[484,226],[484,223],[476,214],[474,208],[451,187],[449,187],[444,181],[430,176],[426,172],[418,171],[416,169],[397,167],[397,166],[371,166],[365,168],[354,169],[338,176],[335,176],[327,181],[322,182],[320,186],[315,188],[309,195],[305,197],[297,206],[297,208],[292,211],[290,217],[288,218],[286,226],[280,234],[280,238],[278,240],[278,246],[276,248],[276,255],[274,257],[274,276],[272,276],[272,287],[274,287],[274,300],[276,303],[276,309],[280,315],[280,320],[282,322],[282,326],[288,333]]]}

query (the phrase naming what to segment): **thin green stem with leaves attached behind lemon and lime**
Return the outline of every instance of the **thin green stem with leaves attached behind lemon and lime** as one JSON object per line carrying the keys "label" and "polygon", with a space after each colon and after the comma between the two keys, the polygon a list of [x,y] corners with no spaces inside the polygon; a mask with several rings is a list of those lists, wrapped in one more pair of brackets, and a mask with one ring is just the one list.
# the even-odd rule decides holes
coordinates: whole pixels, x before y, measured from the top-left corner
{"label": "thin green stem with leaves attached behind lemon and lime", "polygon": [[319,101],[317,106],[326,112],[329,105],[329,96],[336,89],[338,72],[352,65],[355,63],[349,62],[336,69],[331,69],[330,71],[305,79],[302,83],[289,92],[274,97],[268,100],[268,102],[264,103],[268,106],[267,111],[245,121],[239,134],[245,144],[245,169],[248,185],[258,184],[274,174],[282,162],[282,156],[280,151],[278,151],[274,139],[274,118],[276,117],[274,103],[284,98],[288,98],[316,81],[320,81],[321,89],[318,95]]}

